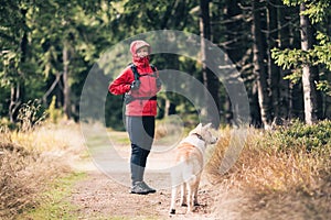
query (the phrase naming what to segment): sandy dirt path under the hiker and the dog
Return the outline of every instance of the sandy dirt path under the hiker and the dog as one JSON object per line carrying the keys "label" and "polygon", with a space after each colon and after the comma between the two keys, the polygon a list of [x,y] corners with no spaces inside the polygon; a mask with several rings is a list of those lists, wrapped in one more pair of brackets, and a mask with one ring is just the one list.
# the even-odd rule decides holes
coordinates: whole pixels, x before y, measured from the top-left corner
{"label": "sandy dirt path under the hiker and the dog", "polygon": [[[117,150],[121,157],[129,157],[127,147],[119,146]],[[169,160],[171,161],[171,154],[172,152],[168,155],[151,153],[148,167],[164,166]],[[88,175],[86,179],[76,184],[71,198],[73,205],[79,207],[77,210],[79,219],[215,219],[211,213],[214,199],[206,180],[201,183],[199,191],[201,206],[196,207],[193,215],[185,215],[185,207],[178,206],[177,215],[169,217],[171,191],[169,187],[162,187],[168,180],[164,174],[158,172],[146,174],[146,182],[158,189],[156,194],[132,195],[129,194],[130,187],[124,184],[125,179],[129,178],[128,170],[115,175],[109,170],[102,172],[96,165],[98,164],[90,161],[75,164],[76,169],[84,170]]]}

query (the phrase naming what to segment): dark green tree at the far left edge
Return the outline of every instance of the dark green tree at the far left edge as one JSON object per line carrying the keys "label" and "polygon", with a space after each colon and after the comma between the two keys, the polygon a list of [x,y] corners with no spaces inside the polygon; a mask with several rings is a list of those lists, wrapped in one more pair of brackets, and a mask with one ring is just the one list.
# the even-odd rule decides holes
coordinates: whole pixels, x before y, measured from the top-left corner
{"label": "dark green tree at the far left edge", "polygon": [[8,109],[11,122],[17,121],[18,110],[32,92],[25,87],[40,86],[38,64],[31,58],[32,45],[29,15],[34,4],[30,1],[3,1],[0,7],[0,87],[8,89],[10,97],[1,100]]}

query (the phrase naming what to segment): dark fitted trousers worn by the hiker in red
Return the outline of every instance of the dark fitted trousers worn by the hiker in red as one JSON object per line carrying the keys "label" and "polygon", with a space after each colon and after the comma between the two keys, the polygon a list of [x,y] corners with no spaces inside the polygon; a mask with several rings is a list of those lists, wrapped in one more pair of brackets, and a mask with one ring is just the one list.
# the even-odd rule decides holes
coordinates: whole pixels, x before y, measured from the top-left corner
{"label": "dark fitted trousers worn by the hiker in red", "polygon": [[154,117],[127,117],[126,125],[131,142],[130,168],[134,184],[143,180],[147,157],[154,138],[156,120]]}

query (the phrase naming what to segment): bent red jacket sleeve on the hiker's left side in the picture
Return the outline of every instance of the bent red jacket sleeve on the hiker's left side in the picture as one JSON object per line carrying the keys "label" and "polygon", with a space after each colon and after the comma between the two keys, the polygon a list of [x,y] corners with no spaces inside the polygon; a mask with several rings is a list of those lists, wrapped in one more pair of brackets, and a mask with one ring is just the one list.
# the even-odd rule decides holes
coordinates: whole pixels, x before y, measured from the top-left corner
{"label": "bent red jacket sleeve on the hiker's left side in the picture", "polygon": [[122,95],[131,89],[134,74],[129,68],[126,68],[108,87],[113,95]]}

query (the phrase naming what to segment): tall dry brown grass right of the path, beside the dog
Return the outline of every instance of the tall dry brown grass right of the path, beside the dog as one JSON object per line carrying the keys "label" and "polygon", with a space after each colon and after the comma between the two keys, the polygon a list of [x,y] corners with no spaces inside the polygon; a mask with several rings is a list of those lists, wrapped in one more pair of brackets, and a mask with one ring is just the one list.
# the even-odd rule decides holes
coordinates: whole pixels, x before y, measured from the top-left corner
{"label": "tall dry brown grass right of the path, beside the dog", "polygon": [[238,160],[225,174],[224,156],[236,133],[222,131],[206,167],[221,189],[215,215],[227,216],[221,219],[327,219],[331,215],[330,129],[308,128],[312,136],[313,132],[325,133],[321,135],[325,140],[319,139],[323,144],[316,145],[291,136],[285,142],[290,129],[269,133],[249,129]]}

